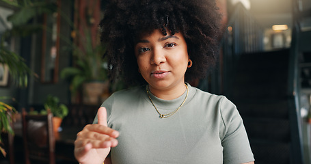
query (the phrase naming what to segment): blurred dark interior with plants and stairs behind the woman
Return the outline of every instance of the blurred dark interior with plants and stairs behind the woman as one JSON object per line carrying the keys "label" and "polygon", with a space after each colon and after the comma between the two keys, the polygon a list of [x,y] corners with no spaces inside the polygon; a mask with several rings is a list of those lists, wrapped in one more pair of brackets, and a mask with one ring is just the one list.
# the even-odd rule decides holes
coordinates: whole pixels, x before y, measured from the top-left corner
{"label": "blurred dark interior with plants and stairs behind the woman", "polygon": [[[107,75],[107,1],[0,0],[1,164],[77,163],[77,133],[129,87]],[[234,102],[256,164],[310,164],[311,1],[217,4],[217,66],[191,85]]]}

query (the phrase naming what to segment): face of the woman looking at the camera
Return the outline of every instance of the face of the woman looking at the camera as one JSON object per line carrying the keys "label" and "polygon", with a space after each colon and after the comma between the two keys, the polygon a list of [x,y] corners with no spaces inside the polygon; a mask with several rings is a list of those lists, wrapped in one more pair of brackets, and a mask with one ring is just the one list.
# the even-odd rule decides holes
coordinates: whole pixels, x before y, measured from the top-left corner
{"label": "face of the woman looking at the camera", "polygon": [[[167,30],[168,31],[168,30]],[[189,61],[187,44],[181,33],[167,36],[156,29],[139,38],[135,56],[141,76],[150,90],[184,88],[185,72]]]}

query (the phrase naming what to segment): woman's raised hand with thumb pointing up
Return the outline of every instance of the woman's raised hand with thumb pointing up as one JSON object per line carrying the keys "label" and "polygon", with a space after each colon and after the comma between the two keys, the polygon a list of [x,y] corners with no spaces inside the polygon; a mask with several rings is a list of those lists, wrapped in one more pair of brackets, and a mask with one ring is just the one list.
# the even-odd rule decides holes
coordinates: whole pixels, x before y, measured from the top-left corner
{"label": "woman's raised hand with thumb pointing up", "polygon": [[100,107],[98,124],[88,124],[77,134],[75,157],[79,163],[100,163],[106,159],[111,147],[118,145],[118,131],[107,127],[107,111]]}

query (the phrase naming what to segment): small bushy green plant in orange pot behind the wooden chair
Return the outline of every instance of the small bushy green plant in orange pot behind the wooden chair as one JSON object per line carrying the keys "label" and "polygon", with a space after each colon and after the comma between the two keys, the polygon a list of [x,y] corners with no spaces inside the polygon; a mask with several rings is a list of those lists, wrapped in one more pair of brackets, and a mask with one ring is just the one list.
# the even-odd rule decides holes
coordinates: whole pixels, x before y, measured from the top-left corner
{"label": "small bushy green plant in orange pot behind the wooden chair", "polygon": [[53,113],[53,128],[57,132],[59,126],[62,124],[63,118],[68,115],[68,108],[59,102],[59,98],[49,94],[44,101],[44,109],[40,113],[47,114],[48,112]]}

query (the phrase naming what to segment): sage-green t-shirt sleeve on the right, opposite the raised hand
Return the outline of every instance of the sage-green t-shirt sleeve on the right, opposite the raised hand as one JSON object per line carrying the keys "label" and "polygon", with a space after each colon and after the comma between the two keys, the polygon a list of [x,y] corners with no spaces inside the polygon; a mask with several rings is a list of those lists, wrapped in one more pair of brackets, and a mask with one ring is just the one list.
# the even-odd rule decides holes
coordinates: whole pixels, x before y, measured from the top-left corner
{"label": "sage-green t-shirt sleeve on the right, opposite the raised hand", "polygon": [[220,105],[221,117],[224,122],[225,134],[221,138],[224,147],[224,163],[247,163],[254,161],[243,120],[236,106],[226,97]]}

